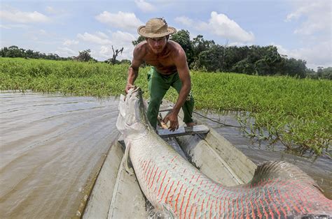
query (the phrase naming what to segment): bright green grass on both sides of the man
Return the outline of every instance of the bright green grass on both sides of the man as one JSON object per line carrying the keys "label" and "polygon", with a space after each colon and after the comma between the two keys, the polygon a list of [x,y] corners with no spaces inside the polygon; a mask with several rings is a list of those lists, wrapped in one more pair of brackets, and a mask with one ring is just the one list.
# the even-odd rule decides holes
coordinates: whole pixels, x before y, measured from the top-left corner
{"label": "bright green grass on both sides of the man", "polygon": [[[128,64],[0,58],[0,89],[60,91],[78,96],[118,96],[123,93]],[[137,78],[147,97],[146,73]],[[288,149],[331,150],[331,80],[268,77],[193,71],[196,109],[239,112],[248,134],[279,140]],[[166,98],[176,101],[174,89]],[[328,154],[331,156],[331,154]]]}

